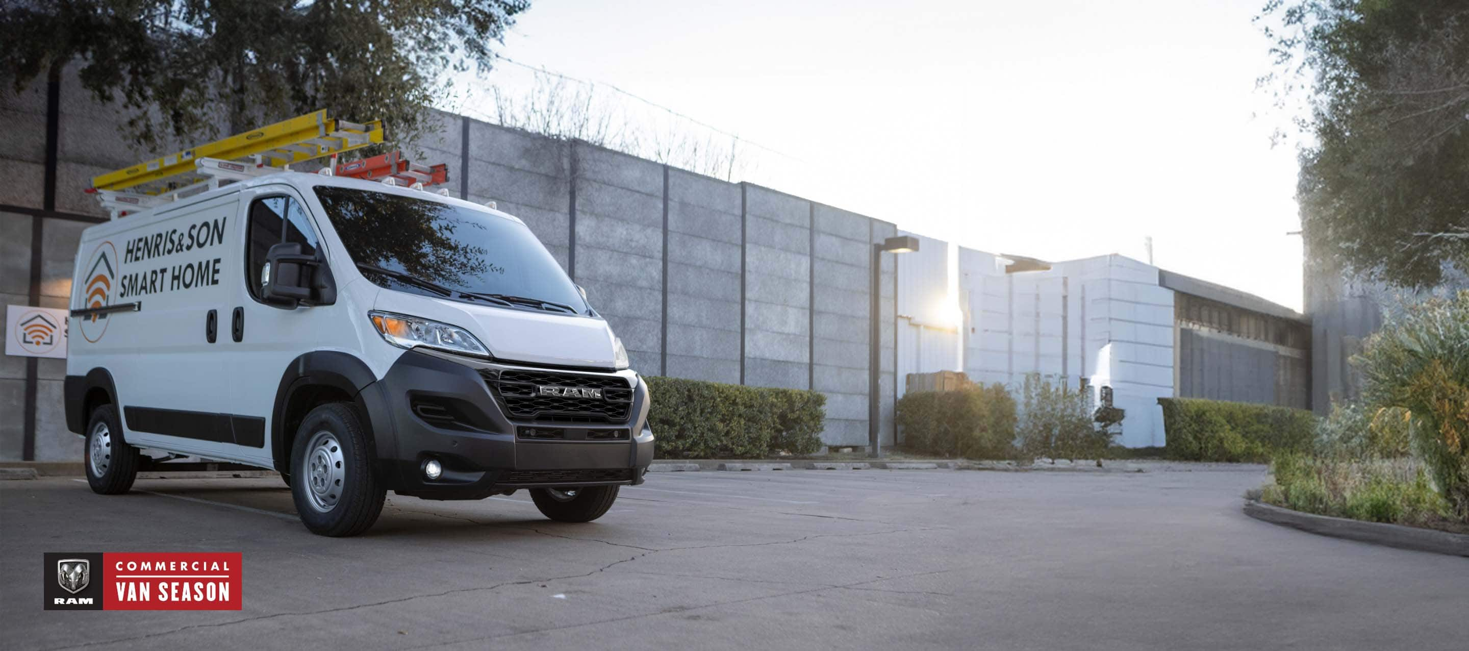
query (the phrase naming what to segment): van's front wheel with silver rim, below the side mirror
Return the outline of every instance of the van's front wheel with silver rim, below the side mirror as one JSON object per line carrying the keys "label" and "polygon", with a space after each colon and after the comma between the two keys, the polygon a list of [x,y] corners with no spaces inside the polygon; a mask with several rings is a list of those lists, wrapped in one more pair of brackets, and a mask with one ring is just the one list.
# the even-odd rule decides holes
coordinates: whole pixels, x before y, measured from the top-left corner
{"label": "van's front wheel with silver rim, below the side mirror", "polygon": [[[320,438],[323,434],[335,447]],[[313,475],[313,460],[328,470]],[[291,445],[289,475],[291,497],[301,523],[323,536],[354,536],[378,522],[386,491],[373,473],[372,461],[372,447],[357,407],[331,403],[306,414]],[[333,478],[336,470],[339,473]]]}

